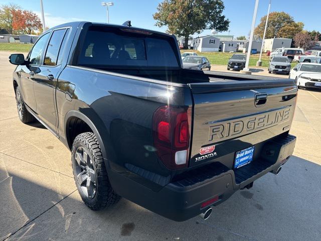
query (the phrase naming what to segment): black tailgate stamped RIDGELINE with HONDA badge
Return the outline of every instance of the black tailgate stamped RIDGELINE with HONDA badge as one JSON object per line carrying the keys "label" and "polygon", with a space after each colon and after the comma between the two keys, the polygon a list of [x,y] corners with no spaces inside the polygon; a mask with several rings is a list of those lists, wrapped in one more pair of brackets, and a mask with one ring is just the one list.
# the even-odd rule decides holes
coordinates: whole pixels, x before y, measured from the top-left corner
{"label": "black tailgate stamped RIDGELINE with HONDA badge", "polygon": [[218,159],[233,168],[237,151],[289,131],[297,94],[291,79],[189,85],[194,99],[190,166]]}

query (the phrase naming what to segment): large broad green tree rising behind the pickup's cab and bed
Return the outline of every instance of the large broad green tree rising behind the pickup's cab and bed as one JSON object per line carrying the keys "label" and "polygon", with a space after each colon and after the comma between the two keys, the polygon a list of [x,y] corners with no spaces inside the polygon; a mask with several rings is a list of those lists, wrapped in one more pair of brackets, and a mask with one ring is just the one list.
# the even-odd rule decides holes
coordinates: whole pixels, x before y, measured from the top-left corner
{"label": "large broad green tree rising behind the pickup's cab and bed", "polygon": [[188,47],[190,35],[204,29],[227,31],[230,21],[223,15],[222,0],[165,0],[153,15],[156,26],[167,26],[168,33],[184,37]]}

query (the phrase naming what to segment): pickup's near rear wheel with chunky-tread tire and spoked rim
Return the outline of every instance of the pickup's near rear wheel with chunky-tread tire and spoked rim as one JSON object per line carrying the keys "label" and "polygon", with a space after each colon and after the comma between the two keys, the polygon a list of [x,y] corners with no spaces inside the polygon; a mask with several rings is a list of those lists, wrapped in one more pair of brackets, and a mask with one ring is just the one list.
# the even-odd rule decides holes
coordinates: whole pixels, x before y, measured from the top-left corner
{"label": "pickup's near rear wheel with chunky-tread tire and spoked rim", "polygon": [[78,135],[71,151],[75,183],[81,199],[92,210],[116,204],[120,196],[112,189],[95,134]]}

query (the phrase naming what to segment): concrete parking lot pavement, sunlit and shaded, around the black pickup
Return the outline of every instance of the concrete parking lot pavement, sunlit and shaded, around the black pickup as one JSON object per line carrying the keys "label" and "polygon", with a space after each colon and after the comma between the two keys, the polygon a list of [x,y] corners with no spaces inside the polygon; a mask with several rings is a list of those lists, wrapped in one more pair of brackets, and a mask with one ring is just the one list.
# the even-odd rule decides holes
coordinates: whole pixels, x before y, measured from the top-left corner
{"label": "concrete parking lot pavement, sunlit and shaded, around the black pickup", "polygon": [[238,191],[208,220],[175,222],[125,199],[102,211],[82,203],[69,150],[19,121],[9,54],[0,52],[0,240],[321,240],[321,92],[299,90],[295,152],[278,176]]}

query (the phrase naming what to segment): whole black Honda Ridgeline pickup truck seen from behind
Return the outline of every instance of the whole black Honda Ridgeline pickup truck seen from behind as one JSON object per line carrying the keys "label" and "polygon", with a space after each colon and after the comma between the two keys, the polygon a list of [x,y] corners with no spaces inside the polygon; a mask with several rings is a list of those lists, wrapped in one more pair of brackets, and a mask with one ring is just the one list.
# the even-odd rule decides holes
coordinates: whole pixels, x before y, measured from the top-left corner
{"label": "whole black Honda Ridgeline pickup truck seen from behind", "polygon": [[122,196],[176,221],[207,218],[294,149],[294,80],[183,69],[172,35],[68,23],[10,62],[21,121],[71,150],[93,210]]}

